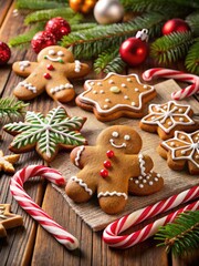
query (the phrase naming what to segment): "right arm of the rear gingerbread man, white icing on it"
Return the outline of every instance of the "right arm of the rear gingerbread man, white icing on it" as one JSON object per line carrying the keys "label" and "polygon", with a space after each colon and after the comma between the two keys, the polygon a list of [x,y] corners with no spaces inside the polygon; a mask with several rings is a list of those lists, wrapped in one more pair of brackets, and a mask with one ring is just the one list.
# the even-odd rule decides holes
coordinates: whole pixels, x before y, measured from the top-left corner
{"label": "right arm of the rear gingerbread man, white icing on it", "polygon": [[90,72],[90,66],[75,60],[74,63],[67,63],[65,73],[69,79],[83,78]]}

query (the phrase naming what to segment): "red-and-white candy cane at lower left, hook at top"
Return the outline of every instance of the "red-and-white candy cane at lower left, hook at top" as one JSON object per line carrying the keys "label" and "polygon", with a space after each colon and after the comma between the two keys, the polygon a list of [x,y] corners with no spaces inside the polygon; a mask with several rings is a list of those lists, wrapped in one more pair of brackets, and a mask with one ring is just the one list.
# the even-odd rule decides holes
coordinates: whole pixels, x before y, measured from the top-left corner
{"label": "red-and-white candy cane at lower left, hook at top", "polygon": [[34,176],[43,176],[46,180],[62,185],[65,183],[62,175],[53,168],[43,165],[30,165],[18,171],[10,183],[10,191],[19,205],[32,216],[40,225],[46,229],[54,238],[69,249],[75,249],[78,246],[77,239],[66,232],[62,226],[54,222],[32,198],[24,192],[23,183]]}

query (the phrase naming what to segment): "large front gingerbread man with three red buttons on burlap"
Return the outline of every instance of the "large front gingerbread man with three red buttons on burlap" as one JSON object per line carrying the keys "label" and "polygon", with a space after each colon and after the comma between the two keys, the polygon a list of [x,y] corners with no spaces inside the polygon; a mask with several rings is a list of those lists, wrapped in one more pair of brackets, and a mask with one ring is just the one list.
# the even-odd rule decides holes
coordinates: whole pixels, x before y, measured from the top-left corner
{"label": "large front gingerbread man with three red buttons on burlap", "polygon": [[[153,168],[149,156],[138,155],[142,139],[127,125],[114,125],[105,129],[97,137],[95,146],[80,146],[72,151],[72,162],[81,168],[66,184],[65,192],[74,202],[87,202],[94,193],[101,208],[107,214],[124,209],[128,197],[129,178],[148,173]],[[150,185],[157,186],[158,182]],[[159,186],[160,188],[160,186]],[[137,187],[136,187],[137,190]],[[140,187],[146,195],[148,186]],[[130,187],[133,193],[135,187]],[[150,193],[154,193],[150,191]],[[149,193],[148,193],[149,194]]]}

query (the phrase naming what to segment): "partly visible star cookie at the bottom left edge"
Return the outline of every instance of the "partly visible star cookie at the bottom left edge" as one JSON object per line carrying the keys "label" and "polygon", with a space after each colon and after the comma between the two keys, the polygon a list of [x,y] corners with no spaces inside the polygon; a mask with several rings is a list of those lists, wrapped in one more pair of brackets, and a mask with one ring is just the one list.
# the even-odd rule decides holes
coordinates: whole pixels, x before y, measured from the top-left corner
{"label": "partly visible star cookie at the bottom left edge", "polygon": [[10,204],[0,204],[0,237],[7,236],[7,229],[20,226],[23,218],[10,213]]}

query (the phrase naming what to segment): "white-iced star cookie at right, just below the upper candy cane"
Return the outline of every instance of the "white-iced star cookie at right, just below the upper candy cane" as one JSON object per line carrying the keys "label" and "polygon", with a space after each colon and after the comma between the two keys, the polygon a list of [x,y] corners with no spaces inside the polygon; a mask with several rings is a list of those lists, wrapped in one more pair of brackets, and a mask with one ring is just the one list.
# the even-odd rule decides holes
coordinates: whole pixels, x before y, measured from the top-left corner
{"label": "white-iced star cookie at right, just below the upper candy cane", "polygon": [[176,130],[192,132],[199,129],[199,124],[191,119],[193,111],[190,105],[169,101],[164,104],[150,104],[149,114],[142,119],[142,130],[157,132],[161,140],[174,136]]}

